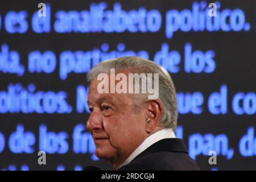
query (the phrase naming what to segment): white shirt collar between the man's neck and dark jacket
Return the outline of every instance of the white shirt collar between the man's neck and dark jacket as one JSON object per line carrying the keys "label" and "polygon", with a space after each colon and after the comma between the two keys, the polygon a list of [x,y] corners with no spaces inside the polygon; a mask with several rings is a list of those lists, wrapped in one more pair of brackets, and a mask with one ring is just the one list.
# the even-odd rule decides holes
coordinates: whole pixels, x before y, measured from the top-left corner
{"label": "white shirt collar between the man's neck and dark jacket", "polygon": [[121,168],[122,166],[129,164],[137,155],[141,154],[141,152],[146,150],[152,144],[165,138],[176,138],[174,131],[172,129],[162,129],[150,135],[141,143],[141,145],[138,148],[135,149],[135,151],[133,151],[129,158],[127,158],[125,162],[123,162],[118,168]]}

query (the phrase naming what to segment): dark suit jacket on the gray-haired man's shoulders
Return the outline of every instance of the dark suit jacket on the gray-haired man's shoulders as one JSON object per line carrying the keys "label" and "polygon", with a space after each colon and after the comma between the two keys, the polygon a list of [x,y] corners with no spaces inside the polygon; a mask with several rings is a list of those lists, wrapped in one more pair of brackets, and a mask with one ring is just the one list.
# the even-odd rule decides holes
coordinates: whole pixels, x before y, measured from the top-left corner
{"label": "dark suit jacket on the gray-haired man's shoulders", "polygon": [[171,171],[200,170],[196,162],[188,155],[183,140],[177,138],[162,139],[152,144],[129,164],[119,171]]}

